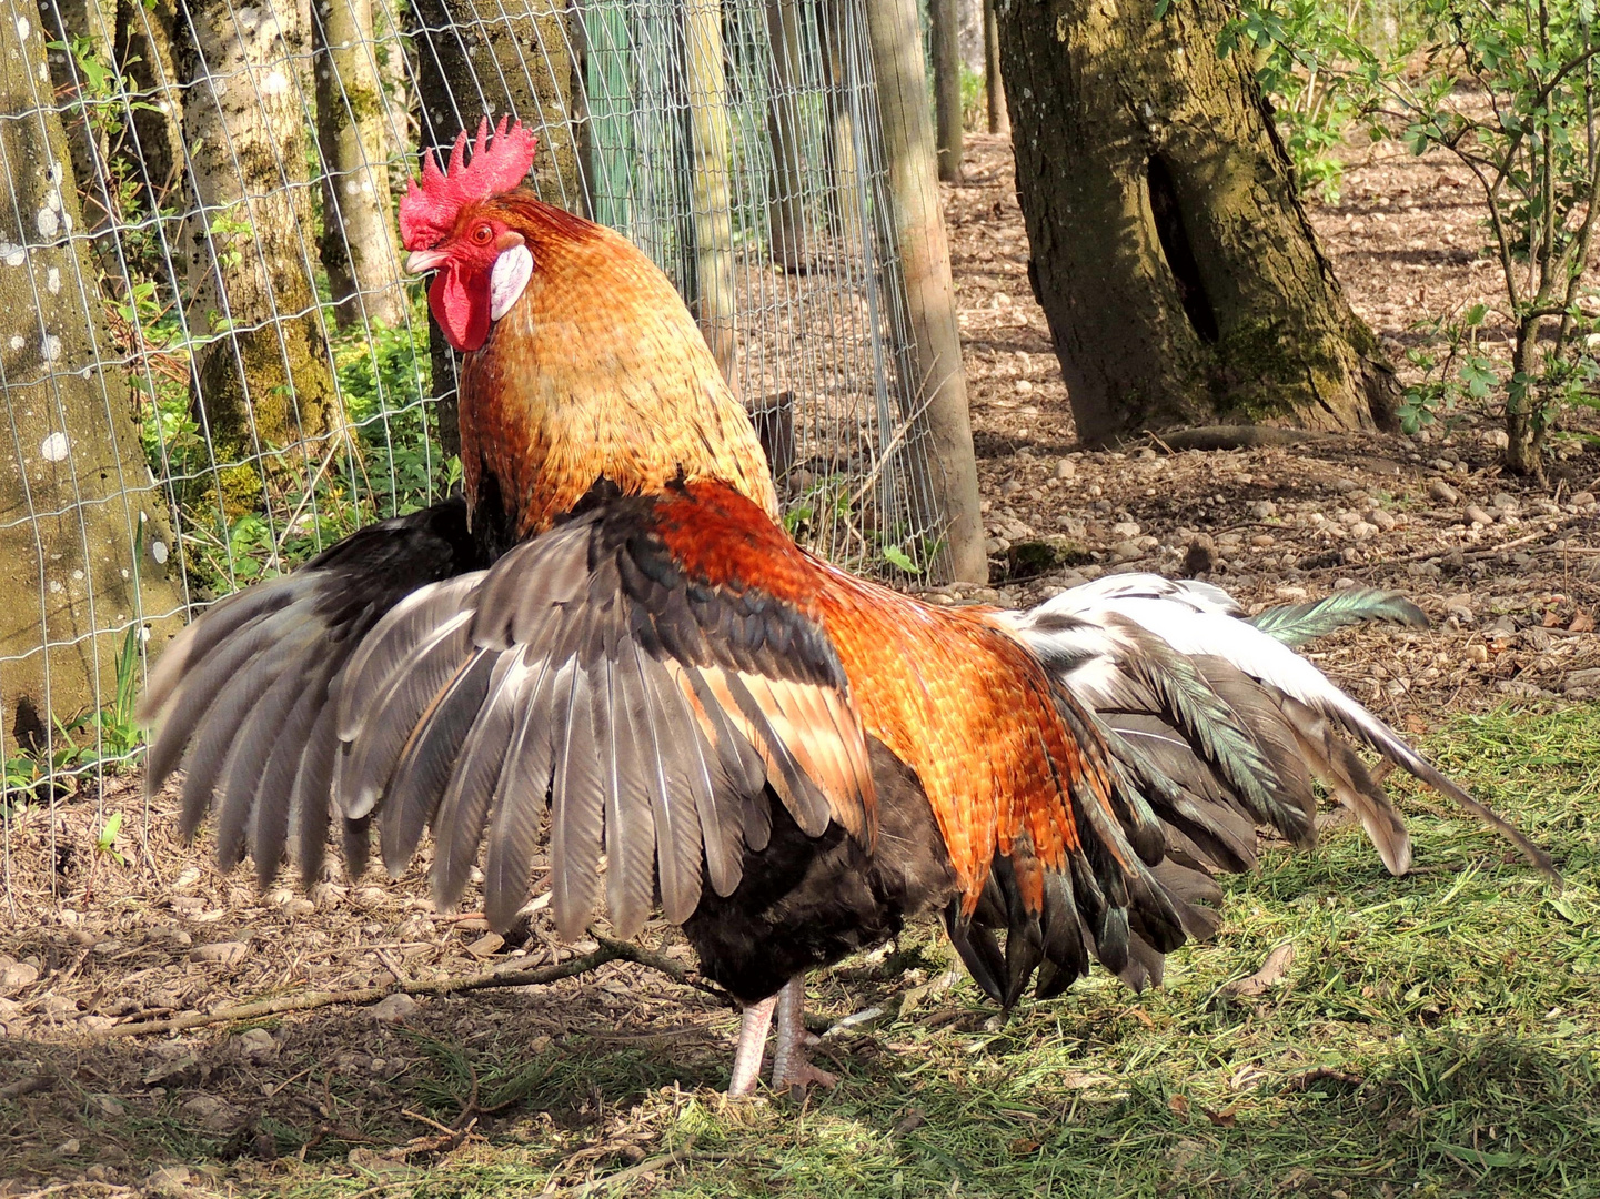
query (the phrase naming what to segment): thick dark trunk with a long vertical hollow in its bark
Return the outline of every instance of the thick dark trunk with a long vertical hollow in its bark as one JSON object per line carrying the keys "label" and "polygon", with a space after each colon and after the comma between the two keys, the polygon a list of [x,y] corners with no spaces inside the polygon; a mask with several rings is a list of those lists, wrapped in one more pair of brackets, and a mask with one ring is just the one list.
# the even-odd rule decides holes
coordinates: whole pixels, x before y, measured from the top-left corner
{"label": "thick dark trunk with a long vertical hollow in its bark", "polygon": [[998,0],[1030,275],[1078,435],[1390,426],[1224,0]]}

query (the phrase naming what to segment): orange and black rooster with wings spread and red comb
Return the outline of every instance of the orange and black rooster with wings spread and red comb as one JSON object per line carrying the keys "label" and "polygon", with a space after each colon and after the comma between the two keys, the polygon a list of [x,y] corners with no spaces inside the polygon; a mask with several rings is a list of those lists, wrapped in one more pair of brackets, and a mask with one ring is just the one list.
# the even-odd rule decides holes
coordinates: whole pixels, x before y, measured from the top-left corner
{"label": "orange and black rooster with wings spread and red comb", "polygon": [[[358,874],[376,823],[400,872],[432,829],[437,901],[482,852],[504,928],[547,840],[562,936],[602,904],[619,936],[658,908],[683,927],[744,1005],[746,1093],[774,1007],[774,1087],[829,1081],[805,973],[922,912],[1005,1007],[1091,959],[1158,980],[1258,824],[1314,839],[1314,776],[1405,869],[1341,733],[1472,804],[1214,589],[939,608],[800,549],[669,280],[539,202],[531,162],[526,131],[485,123],[470,158],[466,134],[448,168],[424,157],[400,210],[466,355],[464,495],[222,600],[150,676],[149,786],[186,768],[182,831],[214,808],[224,868],[248,852],[266,882],[293,840],[315,880],[331,823]],[[1277,631],[1414,613],[1363,602]]]}

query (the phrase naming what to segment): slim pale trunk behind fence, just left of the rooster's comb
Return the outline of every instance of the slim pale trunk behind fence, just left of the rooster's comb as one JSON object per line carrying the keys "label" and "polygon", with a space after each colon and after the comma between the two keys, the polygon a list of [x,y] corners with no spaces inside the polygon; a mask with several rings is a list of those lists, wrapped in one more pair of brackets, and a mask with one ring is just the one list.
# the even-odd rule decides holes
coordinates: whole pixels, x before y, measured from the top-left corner
{"label": "slim pale trunk behind fence, just left of the rooster's comb", "polygon": [[314,6],[317,147],[322,152],[322,264],[339,328],[405,320],[394,203],[389,114],[373,56],[371,0]]}

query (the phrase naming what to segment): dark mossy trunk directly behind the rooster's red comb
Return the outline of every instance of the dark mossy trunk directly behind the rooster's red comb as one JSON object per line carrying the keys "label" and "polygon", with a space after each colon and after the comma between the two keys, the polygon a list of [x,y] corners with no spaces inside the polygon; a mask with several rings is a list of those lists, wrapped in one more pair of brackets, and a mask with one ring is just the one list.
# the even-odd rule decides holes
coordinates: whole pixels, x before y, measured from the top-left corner
{"label": "dark mossy trunk directly behind the rooster's red comb", "polygon": [[[582,69],[571,54],[579,42],[570,27],[576,21],[571,6],[563,0],[414,0],[410,21],[422,149],[448,152],[462,130],[477,134],[485,117],[512,114],[539,134],[533,160],[539,194],[581,211],[578,146],[565,118],[573,75]],[[440,442],[445,453],[456,453],[456,359],[437,325],[429,347]]]}

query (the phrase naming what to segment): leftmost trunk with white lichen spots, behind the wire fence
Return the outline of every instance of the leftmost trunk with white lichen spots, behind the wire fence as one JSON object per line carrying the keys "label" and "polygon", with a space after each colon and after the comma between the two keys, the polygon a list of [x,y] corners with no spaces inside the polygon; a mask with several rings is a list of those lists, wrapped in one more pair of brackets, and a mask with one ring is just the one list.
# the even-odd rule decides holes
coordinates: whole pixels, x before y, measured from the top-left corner
{"label": "leftmost trunk with white lichen spots, behind the wire fence", "polygon": [[11,434],[0,463],[0,757],[46,748],[51,717],[110,703],[125,629],[162,618],[158,648],[181,607],[128,378],[101,367],[115,355],[94,267],[86,243],[67,237],[83,218],[48,75],[40,83],[45,38],[32,5],[0,5],[0,389]]}

